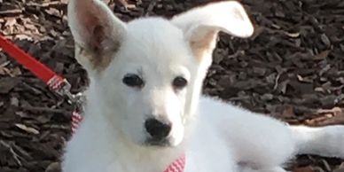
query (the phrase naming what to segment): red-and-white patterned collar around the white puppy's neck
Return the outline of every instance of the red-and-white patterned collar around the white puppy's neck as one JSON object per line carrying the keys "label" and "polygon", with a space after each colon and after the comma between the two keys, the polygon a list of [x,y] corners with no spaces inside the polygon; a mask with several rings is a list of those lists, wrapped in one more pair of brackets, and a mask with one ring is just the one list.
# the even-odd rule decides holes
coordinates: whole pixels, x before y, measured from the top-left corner
{"label": "red-and-white patterned collar around the white puppy's neck", "polygon": [[[76,129],[79,128],[81,121],[82,121],[82,115],[74,112],[72,114],[72,132],[73,133],[76,131]],[[173,161],[168,166],[168,168],[166,168],[163,172],[184,172],[184,168],[185,168],[185,155],[183,154],[183,156]]]}

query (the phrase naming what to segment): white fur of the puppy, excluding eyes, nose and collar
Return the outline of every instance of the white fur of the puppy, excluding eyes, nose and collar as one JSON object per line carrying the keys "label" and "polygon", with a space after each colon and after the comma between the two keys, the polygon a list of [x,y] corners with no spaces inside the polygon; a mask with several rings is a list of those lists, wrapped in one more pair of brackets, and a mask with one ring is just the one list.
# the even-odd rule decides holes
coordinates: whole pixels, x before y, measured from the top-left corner
{"label": "white fur of the puppy, excluding eyes, nose and collar", "polygon": [[[79,6],[91,8],[82,11]],[[217,32],[240,37],[253,33],[240,4],[210,4],[172,20],[129,23],[97,0],[71,0],[68,13],[75,56],[90,74],[90,89],[85,119],[66,145],[63,172],[162,172],[183,153],[184,172],[285,171],[283,165],[297,153],[344,158],[343,126],[289,127],[199,97]],[[90,17],[96,18],[86,20]],[[94,33],[94,26],[104,29]],[[109,51],[112,43],[121,46]],[[94,62],[106,58],[106,66]],[[139,74],[145,86],[128,87],[122,82],[125,74]],[[183,90],[172,88],[176,76],[188,81]],[[145,145],[149,136],[144,122],[152,117],[173,124],[168,146]]]}

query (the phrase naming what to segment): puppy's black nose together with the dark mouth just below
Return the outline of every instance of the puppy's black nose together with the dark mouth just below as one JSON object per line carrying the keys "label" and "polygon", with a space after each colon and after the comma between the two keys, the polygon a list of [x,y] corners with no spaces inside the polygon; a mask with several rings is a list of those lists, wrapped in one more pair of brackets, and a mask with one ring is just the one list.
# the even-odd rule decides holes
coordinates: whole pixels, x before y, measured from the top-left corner
{"label": "puppy's black nose together with the dark mouth just below", "polygon": [[159,121],[155,118],[150,118],[145,121],[145,130],[150,135],[147,144],[150,145],[167,145],[168,135],[172,129],[172,124],[169,122]]}

